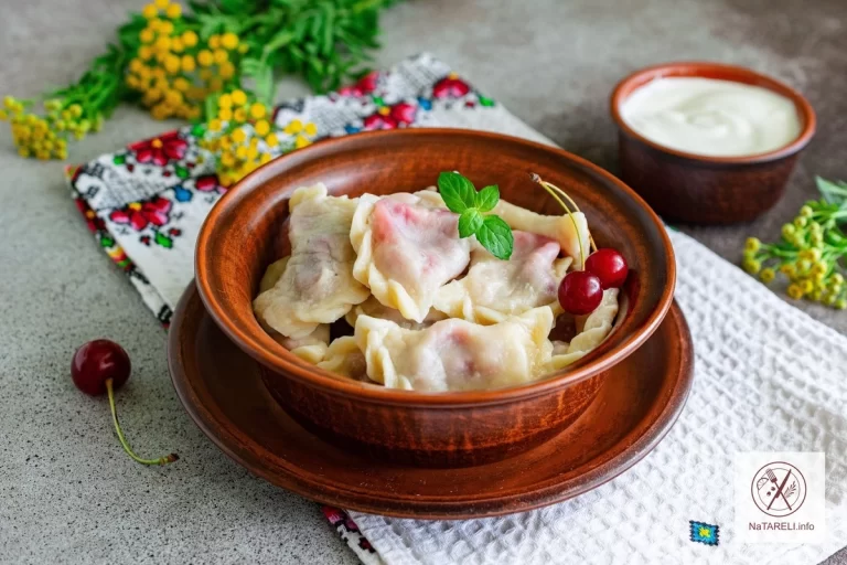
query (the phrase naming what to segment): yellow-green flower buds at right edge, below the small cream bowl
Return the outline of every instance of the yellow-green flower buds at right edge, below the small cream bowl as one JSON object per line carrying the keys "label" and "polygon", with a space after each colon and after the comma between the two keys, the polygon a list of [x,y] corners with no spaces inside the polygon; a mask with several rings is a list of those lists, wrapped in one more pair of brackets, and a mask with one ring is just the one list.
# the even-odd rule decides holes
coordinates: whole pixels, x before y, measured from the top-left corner
{"label": "yellow-green flower buds at right edge, below the small cream bowl", "polygon": [[[792,227],[786,227],[792,226]],[[783,226],[783,236],[793,239],[795,224]],[[791,298],[800,300],[805,298],[825,306],[845,309],[847,308],[847,287],[844,276],[837,271],[836,263],[824,260],[819,247],[806,247],[796,253],[787,252],[784,262],[778,267],[762,268],[757,254],[762,244],[755,237],[750,237],[744,244],[744,260],[742,266],[751,275],[759,275],[764,284],[776,278],[776,271],[789,279],[787,294]]]}

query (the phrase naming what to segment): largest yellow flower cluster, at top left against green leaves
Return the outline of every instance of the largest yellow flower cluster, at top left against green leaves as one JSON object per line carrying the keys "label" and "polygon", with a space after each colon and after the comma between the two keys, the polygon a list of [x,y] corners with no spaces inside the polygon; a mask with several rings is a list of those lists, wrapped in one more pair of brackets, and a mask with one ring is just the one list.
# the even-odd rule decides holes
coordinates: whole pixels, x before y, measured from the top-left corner
{"label": "largest yellow flower cluster, at top left against green leaves", "polygon": [[141,13],[148,22],[139,32],[138,54],[129,62],[127,86],[142,94],[141,102],[157,119],[199,118],[206,96],[235,78],[247,45],[232,32],[202,43],[186,28],[180,4],[169,0],[156,0]]}

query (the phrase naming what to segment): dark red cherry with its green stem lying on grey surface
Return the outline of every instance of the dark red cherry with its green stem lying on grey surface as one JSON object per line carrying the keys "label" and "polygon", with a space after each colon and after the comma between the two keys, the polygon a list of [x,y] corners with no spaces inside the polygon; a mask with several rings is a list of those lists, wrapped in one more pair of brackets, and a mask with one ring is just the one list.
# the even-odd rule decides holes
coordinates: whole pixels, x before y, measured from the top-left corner
{"label": "dark red cherry with its green stem lying on grey surface", "polygon": [[129,379],[132,365],[129,362],[127,352],[109,340],[94,340],[83,344],[76,350],[74,359],[71,362],[71,376],[77,388],[85,394],[99,396],[109,395],[109,407],[111,408],[111,422],[115,425],[115,433],[118,435],[124,450],[135,461],[142,465],[168,465],[178,460],[176,454],[171,454],[159,459],[141,459],[132,448],[129,447],[124,437],[124,430],[118,423],[118,414],[115,408],[115,390],[120,388]]}

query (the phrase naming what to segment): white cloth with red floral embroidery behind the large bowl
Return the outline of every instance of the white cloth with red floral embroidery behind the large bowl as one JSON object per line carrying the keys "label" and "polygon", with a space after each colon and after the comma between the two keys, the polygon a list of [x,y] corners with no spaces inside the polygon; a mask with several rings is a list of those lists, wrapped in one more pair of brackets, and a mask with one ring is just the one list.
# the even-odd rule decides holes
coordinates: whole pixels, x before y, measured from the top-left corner
{"label": "white cloth with red floral embroidery behind the large bowl", "polygon": [[[519,125],[515,135],[546,140],[427,54],[337,93],[282,104],[274,119],[281,126],[311,121],[319,138],[419,126],[503,131]],[[225,192],[211,161],[202,159],[201,134],[184,127],[68,170],[77,205],[98,242],[164,324],[194,278],[197,231]]]}

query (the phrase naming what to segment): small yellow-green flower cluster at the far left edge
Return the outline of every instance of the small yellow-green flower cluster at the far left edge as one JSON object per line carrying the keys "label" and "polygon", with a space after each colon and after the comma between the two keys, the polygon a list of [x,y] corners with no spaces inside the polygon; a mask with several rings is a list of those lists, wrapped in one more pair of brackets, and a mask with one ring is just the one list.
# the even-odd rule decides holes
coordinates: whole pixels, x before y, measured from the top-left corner
{"label": "small yellow-green flower cluster at the far left edge", "polygon": [[83,107],[78,104],[47,100],[44,117],[29,113],[30,105],[7,96],[0,109],[0,120],[11,124],[12,139],[21,157],[66,159],[67,138],[82,139],[89,130],[99,130],[101,124],[99,116],[94,120],[84,118]]}

